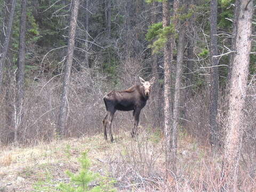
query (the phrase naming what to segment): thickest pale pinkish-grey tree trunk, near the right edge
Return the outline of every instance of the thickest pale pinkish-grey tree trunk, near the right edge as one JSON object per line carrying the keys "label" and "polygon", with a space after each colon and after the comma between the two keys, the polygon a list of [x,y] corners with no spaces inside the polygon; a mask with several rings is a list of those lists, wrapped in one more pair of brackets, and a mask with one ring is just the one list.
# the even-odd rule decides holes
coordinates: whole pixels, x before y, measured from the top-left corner
{"label": "thickest pale pinkish-grey tree trunk, near the right edge", "polygon": [[[222,186],[227,191],[237,191],[239,154],[241,153],[243,108],[251,52],[253,1],[237,0],[235,51],[231,69],[227,135],[225,139]],[[242,61],[242,62],[241,62]]]}

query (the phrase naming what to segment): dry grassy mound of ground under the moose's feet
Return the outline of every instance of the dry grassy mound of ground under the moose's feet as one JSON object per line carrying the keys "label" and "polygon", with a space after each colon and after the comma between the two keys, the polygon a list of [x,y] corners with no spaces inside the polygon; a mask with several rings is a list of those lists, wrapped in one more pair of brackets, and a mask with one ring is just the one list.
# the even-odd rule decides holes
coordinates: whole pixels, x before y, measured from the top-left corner
{"label": "dry grassy mound of ground under the moose's feet", "polygon": [[[165,155],[162,133],[144,131],[134,139],[129,132],[124,132],[114,137],[113,143],[103,140],[103,135],[99,134],[41,142],[34,147],[2,148],[0,191],[57,191],[60,182],[69,182],[66,170],[78,172],[78,157],[86,150],[91,161],[90,170],[104,175],[105,179],[113,178],[116,191],[167,191],[163,185]],[[195,174],[197,166],[207,161],[207,153],[209,148],[198,145],[187,134],[180,134],[179,172],[190,170],[191,175]],[[170,179],[170,182],[175,181]],[[189,182],[185,182],[187,187],[183,183],[182,189],[189,189],[192,183]]]}

